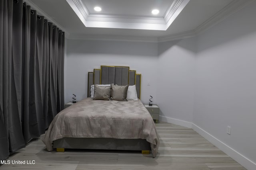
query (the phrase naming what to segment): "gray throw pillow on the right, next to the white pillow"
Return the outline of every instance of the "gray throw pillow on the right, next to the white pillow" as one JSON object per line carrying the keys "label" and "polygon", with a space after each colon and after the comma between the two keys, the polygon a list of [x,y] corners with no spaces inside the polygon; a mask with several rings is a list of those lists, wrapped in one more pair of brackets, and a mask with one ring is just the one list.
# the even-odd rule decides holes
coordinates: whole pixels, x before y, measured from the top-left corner
{"label": "gray throw pillow on the right, next to the white pillow", "polygon": [[118,101],[127,101],[126,100],[127,90],[128,90],[128,85],[117,86],[117,85],[111,84],[110,99],[118,100]]}

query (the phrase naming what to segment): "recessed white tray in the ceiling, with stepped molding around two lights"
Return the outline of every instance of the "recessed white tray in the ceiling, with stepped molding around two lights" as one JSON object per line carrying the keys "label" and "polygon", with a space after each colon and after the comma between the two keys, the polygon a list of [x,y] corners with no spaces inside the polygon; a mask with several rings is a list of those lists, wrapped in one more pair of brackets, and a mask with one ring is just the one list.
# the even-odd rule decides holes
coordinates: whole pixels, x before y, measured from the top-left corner
{"label": "recessed white tray in the ceiling, with stepped molding around two lights", "polygon": [[[190,0],[66,0],[86,27],[165,31]],[[96,12],[94,7],[102,10]],[[152,14],[158,9],[159,14]]]}

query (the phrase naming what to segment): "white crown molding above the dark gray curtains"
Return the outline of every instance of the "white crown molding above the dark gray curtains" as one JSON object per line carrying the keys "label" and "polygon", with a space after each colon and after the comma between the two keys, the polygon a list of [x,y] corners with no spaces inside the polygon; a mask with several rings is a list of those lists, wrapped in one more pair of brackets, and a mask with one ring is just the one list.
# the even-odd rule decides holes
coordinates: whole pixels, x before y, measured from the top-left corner
{"label": "white crown molding above the dark gray curtains", "polygon": [[23,0],[23,2],[26,2],[33,10],[37,11],[38,15],[44,16],[44,18],[50,22],[52,22],[54,25],[56,25],[59,29],[65,32],[65,37],[68,38],[70,33],[64,27],[62,27],[57,21],[55,21],[52,17],[48,16],[44,11],[42,11],[36,4],[34,4],[31,0]]}

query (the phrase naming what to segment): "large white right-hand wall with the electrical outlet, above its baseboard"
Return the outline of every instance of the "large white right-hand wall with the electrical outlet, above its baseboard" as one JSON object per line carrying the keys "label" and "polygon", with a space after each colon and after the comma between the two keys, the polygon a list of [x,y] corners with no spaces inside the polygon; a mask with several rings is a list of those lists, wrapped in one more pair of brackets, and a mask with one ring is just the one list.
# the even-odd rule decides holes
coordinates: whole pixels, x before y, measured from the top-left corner
{"label": "large white right-hand wall with the electrical outlet, above its baseboard", "polygon": [[[193,115],[194,124],[253,162],[256,162],[255,9],[253,2],[198,36]],[[227,134],[228,125],[231,135]],[[246,168],[256,169],[256,166]]]}

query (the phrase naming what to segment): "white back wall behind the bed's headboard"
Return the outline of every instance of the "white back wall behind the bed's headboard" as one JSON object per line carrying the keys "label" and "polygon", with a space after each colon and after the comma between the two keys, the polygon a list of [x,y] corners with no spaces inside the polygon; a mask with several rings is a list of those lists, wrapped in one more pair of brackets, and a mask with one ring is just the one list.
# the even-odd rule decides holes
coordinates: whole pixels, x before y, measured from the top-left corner
{"label": "white back wall behind the bed's headboard", "polygon": [[[100,65],[130,66],[142,74],[141,100],[148,103],[149,96],[156,96],[157,43],[126,41],[68,40],[66,58],[66,99],[87,97],[88,72]],[[150,86],[147,86],[148,82]]]}

